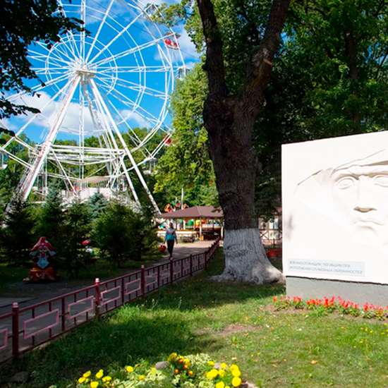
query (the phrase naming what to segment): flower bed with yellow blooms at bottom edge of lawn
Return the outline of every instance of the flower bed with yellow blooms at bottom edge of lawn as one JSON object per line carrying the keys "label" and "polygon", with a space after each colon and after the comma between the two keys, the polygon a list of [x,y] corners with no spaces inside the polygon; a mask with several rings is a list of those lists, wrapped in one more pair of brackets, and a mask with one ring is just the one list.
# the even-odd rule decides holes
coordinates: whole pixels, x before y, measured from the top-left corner
{"label": "flower bed with yellow blooms at bottom edge of lawn", "polygon": [[154,367],[145,364],[128,365],[121,375],[104,375],[104,370],[92,374],[85,372],[76,385],[78,388],[243,388],[245,383],[238,365],[214,363],[207,354],[180,356],[171,353],[169,358]]}

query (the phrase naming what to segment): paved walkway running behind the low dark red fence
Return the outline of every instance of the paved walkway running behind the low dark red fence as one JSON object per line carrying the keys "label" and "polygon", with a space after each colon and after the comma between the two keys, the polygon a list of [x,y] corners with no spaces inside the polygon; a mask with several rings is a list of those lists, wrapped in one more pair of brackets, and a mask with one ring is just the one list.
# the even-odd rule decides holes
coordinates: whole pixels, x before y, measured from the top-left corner
{"label": "paved walkway running behind the low dark red fence", "polygon": [[[207,248],[212,245],[214,241],[197,241],[195,243],[179,243],[174,247],[174,259],[180,259],[182,257],[188,257],[189,255],[195,255],[197,253],[202,253]],[[157,263],[168,262],[169,254],[165,253],[163,258]],[[156,264],[156,263],[154,263]],[[152,265],[150,265],[152,267]],[[127,269],[123,271],[124,274],[129,274],[135,272],[138,269]],[[100,281],[105,281],[109,279],[100,279]],[[20,307],[25,307],[41,301],[46,301],[47,299],[54,298],[56,296],[75,291],[77,289],[82,289],[85,286],[90,286],[94,282],[94,279],[90,280],[80,280],[80,281],[55,281],[53,283],[42,283],[42,284],[32,284],[32,283],[23,283],[23,281],[18,281],[14,284],[11,284],[7,289],[6,293],[0,294],[0,315],[8,313],[11,311],[12,302],[18,302]]]}

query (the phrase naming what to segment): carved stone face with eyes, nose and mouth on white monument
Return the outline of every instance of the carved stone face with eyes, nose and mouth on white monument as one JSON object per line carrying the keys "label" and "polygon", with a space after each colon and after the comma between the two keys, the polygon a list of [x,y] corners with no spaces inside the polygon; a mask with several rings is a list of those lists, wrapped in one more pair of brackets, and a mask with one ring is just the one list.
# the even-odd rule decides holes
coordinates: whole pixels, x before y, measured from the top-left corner
{"label": "carved stone face with eyes, nose and mouth on white monument", "polygon": [[334,208],[351,233],[388,243],[388,165],[348,166],[332,173]]}

